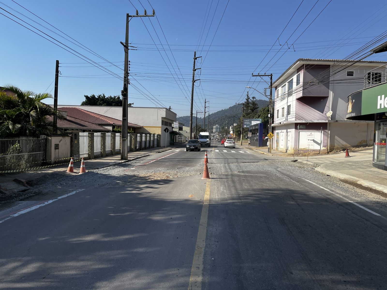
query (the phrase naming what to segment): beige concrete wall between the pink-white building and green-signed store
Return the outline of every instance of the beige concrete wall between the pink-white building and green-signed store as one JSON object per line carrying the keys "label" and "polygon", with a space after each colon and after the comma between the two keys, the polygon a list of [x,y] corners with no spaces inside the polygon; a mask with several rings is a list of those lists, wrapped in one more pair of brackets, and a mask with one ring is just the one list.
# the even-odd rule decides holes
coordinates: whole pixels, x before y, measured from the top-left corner
{"label": "beige concrete wall between the pink-white building and green-signed store", "polygon": [[[373,144],[373,123],[329,123],[329,150]],[[368,139],[368,140],[367,140]]]}

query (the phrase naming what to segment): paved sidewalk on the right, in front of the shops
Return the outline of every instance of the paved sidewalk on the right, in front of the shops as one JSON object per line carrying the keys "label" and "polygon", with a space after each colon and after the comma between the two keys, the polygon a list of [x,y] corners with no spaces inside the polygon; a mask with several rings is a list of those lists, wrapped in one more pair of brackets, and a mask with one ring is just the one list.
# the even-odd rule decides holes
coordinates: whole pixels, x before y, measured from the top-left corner
{"label": "paved sidewalk on the right, in front of the shops", "polygon": [[[243,145],[248,148],[247,145]],[[250,147],[249,149],[267,154],[267,147]],[[316,165],[317,171],[336,177],[343,181],[356,183],[367,188],[387,193],[387,171],[372,166],[373,149],[349,152],[351,157],[345,157],[345,152],[314,156],[296,156],[298,162]],[[289,157],[293,155],[271,150],[271,156]]]}

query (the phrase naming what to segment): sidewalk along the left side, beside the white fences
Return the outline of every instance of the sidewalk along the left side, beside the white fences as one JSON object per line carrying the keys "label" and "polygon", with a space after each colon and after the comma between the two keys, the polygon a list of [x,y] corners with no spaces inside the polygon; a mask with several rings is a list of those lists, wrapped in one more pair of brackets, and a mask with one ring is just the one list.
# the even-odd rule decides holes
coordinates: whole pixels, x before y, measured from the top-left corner
{"label": "sidewalk along the left side, beside the white fences", "polygon": [[[140,159],[152,154],[168,151],[174,148],[184,146],[183,144],[177,144],[173,146],[149,148],[141,151],[128,152],[128,160],[121,160],[121,155],[110,155],[106,157],[100,157],[96,159],[85,160],[86,171],[92,169],[100,169],[104,167],[110,167],[113,165],[129,162],[135,159]],[[0,194],[9,194],[18,191],[26,191],[29,189],[28,184],[33,183],[36,179],[41,178],[50,173],[56,174],[68,174],[68,164],[61,164],[53,167],[36,169],[31,171],[24,171],[20,173],[7,173],[0,174]],[[80,168],[80,162],[74,162],[74,172],[78,173]]]}

